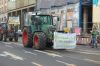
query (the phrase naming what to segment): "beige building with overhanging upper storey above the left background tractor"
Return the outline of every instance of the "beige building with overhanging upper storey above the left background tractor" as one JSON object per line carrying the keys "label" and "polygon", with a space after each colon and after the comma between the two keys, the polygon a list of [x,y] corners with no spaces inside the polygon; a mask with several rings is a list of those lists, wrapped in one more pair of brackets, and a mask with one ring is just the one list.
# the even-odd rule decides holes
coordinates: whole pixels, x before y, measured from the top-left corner
{"label": "beige building with overhanging upper storey above the left background tractor", "polygon": [[27,12],[33,12],[35,6],[36,6],[36,0],[9,0],[8,18],[10,16],[19,16],[20,28],[23,29],[24,14]]}

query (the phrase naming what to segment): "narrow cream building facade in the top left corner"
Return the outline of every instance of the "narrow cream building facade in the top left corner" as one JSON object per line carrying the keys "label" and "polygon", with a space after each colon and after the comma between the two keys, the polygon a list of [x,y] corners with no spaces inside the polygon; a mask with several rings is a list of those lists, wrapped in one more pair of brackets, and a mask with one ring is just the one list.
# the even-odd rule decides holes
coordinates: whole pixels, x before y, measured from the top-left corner
{"label": "narrow cream building facade in the top left corner", "polygon": [[0,0],[0,21],[7,19],[7,0]]}

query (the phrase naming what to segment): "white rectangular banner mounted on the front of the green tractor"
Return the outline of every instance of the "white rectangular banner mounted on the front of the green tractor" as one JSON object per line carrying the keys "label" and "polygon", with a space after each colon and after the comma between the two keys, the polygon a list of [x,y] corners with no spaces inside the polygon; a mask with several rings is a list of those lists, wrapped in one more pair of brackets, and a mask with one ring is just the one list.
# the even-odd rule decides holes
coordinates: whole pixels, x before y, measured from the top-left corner
{"label": "white rectangular banner mounted on the front of the green tractor", "polygon": [[54,32],[54,49],[76,48],[76,33]]}

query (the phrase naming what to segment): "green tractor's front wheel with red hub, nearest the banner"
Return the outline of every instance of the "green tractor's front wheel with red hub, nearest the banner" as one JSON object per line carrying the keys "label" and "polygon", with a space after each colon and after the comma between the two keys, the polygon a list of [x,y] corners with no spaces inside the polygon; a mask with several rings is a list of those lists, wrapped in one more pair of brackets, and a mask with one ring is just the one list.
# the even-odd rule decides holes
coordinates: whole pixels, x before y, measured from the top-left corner
{"label": "green tractor's front wheel with red hub, nearest the banner", "polygon": [[46,35],[43,32],[36,32],[33,36],[33,44],[35,49],[45,49],[46,48]]}

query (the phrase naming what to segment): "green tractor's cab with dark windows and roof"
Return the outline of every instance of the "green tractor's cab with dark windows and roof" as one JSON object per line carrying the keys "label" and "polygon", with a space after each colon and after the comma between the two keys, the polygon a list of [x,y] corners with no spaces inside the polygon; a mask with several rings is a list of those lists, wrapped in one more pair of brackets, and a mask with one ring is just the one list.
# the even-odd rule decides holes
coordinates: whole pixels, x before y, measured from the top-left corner
{"label": "green tractor's cab with dark windows and roof", "polygon": [[51,15],[32,15],[31,27],[33,28],[32,32],[52,30],[53,18]]}

